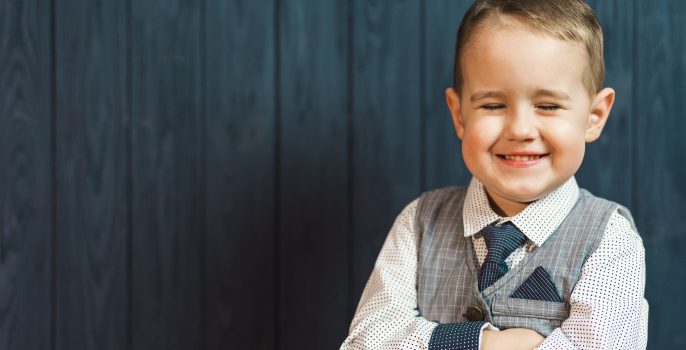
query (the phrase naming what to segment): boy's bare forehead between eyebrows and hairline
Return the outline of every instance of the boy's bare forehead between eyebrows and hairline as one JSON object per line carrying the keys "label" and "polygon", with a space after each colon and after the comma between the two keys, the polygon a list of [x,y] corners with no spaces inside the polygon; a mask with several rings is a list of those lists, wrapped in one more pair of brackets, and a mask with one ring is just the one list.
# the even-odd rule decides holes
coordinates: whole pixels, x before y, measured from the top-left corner
{"label": "boy's bare forehead between eyebrows and hairline", "polygon": [[514,18],[486,21],[461,53],[463,88],[584,91],[588,54]]}

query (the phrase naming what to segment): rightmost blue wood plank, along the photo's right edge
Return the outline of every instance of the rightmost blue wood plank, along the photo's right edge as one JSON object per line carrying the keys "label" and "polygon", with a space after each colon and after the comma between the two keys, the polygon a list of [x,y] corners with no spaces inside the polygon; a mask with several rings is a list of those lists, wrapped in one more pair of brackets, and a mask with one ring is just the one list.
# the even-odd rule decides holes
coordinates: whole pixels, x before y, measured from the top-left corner
{"label": "rightmost blue wood plank, along the photo's right edge", "polygon": [[637,1],[634,171],[647,261],[650,349],[683,348],[686,300],[686,3]]}

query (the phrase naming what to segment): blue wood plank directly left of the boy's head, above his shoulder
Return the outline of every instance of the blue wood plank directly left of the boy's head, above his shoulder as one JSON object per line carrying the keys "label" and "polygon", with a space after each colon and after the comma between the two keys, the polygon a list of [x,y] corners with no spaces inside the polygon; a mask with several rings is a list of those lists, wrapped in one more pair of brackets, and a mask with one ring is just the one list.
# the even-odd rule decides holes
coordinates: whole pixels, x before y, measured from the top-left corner
{"label": "blue wood plank directly left of the boy's head, above his shoulder", "polygon": [[424,1],[424,130],[423,190],[466,186],[472,175],[462,161],[461,143],[455,134],[445,89],[453,84],[457,29],[471,0]]}

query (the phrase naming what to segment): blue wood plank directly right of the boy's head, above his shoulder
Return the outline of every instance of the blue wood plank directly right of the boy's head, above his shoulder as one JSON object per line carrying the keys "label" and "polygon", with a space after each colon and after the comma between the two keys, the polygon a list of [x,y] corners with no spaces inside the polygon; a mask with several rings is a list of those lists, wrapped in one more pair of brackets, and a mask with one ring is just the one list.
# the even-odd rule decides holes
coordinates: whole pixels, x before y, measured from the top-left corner
{"label": "blue wood plank directly right of the boy's head, above his shoulder", "polygon": [[632,209],[634,147],[634,8],[626,0],[589,1],[603,27],[605,86],[617,97],[602,135],[587,144],[579,186]]}

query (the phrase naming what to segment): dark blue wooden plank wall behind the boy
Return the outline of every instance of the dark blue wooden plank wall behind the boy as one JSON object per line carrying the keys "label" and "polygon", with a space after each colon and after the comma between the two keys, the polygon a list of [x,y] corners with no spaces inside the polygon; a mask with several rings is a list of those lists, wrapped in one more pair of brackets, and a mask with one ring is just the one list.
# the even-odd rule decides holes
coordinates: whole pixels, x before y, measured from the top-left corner
{"label": "dark blue wooden plank wall behind the boy", "polygon": [[[686,2],[594,0],[650,349],[686,333]],[[0,349],[333,349],[393,219],[466,184],[467,0],[0,0]]]}

